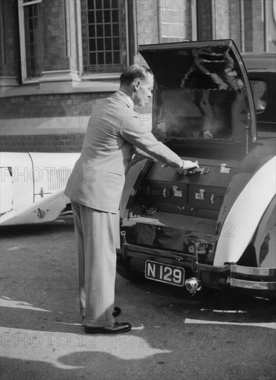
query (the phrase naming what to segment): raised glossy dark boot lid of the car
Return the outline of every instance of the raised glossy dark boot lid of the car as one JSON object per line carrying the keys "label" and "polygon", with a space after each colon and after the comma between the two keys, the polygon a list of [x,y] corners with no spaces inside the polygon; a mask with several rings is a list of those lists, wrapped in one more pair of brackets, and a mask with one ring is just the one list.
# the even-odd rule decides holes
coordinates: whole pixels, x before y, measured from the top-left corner
{"label": "raised glossy dark boot lid of the car", "polygon": [[257,142],[250,83],[231,39],[145,45],[139,52],[156,82],[156,137]]}

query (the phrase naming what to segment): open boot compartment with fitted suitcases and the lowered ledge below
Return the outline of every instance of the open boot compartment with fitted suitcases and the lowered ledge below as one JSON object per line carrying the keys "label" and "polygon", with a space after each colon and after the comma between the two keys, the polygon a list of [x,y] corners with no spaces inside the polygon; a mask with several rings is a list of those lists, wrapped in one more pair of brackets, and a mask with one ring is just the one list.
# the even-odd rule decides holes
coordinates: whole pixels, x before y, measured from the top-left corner
{"label": "open boot compartment with fitted suitcases and the lowered ledge below", "polygon": [[[185,158],[194,161],[195,158]],[[202,160],[185,175],[156,162],[145,173],[122,223],[127,243],[210,259],[217,241],[217,219],[238,167],[237,160]],[[122,230],[121,229],[121,230]]]}

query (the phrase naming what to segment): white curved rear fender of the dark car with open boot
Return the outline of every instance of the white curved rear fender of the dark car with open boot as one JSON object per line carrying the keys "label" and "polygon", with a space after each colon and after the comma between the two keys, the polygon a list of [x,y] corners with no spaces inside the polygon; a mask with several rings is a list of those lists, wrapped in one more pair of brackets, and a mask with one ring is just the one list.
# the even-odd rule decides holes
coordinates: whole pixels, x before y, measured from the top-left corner
{"label": "white curved rear fender of the dark car with open boot", "polygon": [[255,173],[234,201],[221,226],[214,256],[215,266],[237,263],[250,243],[261,217],[275,195],[275,170],[274,157]]}

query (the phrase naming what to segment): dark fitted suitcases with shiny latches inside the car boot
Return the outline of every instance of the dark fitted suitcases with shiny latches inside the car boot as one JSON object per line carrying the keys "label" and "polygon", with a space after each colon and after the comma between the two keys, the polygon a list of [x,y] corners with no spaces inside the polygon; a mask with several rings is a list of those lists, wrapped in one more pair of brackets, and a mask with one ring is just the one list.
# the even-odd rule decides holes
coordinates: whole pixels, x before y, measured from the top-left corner
{"label": "dark fitted suitcases with shiny latches inside the car boot", "polygon": [[187,171],[182,175],[172,168],[154,164],[147,177],[142,180],[136,196],[136,205],[147,213],[181,213],[187,216],[217,220],[228,184],[232,179],[236,162],[205,160],[201,168],[205,171]]}

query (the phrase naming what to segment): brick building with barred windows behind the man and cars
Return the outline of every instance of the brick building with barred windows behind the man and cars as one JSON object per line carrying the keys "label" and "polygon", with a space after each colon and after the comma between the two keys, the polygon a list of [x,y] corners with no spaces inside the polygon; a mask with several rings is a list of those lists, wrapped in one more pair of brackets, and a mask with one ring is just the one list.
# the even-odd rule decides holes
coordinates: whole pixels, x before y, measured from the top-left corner
{"label": "brick building with barred windows behind the man and cars", "polygon": [[95,104],[142,63],[139,45],[232,38],[275,51],[275,2],[1,0],[1,151],[80,151]]}

